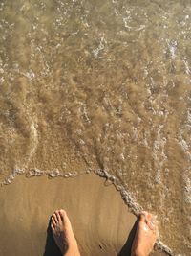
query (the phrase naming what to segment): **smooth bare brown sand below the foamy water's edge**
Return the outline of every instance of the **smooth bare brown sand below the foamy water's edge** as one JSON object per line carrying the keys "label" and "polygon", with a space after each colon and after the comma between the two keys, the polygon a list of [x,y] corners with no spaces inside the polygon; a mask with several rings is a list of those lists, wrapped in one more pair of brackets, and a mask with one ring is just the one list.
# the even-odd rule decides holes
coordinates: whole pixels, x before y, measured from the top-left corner
{"label": "smooth bare brown sand below the foamy water's edge", "polygon": [[[81,255],[118,255],[137,218],[114,186],[104,182],[95,174],[68,179],[18,176],[0,188],[0,256],[60,255],[47,232],[53,211],[60,208],[72,221]],[[127,250],[122,255],[130,254]]]}

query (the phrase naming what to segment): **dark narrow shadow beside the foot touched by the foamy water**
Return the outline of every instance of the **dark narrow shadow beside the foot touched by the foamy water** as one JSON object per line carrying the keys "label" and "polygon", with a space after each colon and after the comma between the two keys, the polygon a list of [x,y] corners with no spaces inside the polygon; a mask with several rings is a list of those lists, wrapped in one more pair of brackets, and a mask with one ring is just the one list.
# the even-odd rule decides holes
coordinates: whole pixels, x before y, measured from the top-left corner
{"label": "dark narrow shadow beside the foot touched by the foamy water", "polygon": [[131,230],[130,233],[129,233],[129,236],[128,236],[128,238],[127,238],[126,243],[123,245],[121,251],[118,253],[117,256],[127,256],[127,255],[131,255],[131,247],[132,247],[132,244],[133,244],[135,235],[136,235],[136,230],[137,230],[137,226],[138,226],[138,221],[139,221],[139,218],[138,218],[138,220],[135,222],[135,224],[134,224],[132,230]]}

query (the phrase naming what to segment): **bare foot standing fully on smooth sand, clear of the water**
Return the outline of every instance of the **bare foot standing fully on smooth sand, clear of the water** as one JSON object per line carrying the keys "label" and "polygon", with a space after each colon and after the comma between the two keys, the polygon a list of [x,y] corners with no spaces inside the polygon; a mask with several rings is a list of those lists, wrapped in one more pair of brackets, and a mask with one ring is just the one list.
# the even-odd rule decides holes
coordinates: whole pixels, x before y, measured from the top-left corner
{"label": "bare foot standing fully on smooth sand, clear of the water", "polygon": [[58,210],[53,213],[51,227],[53,238],[62,255],[80,256],[71,221],[64,210]]}

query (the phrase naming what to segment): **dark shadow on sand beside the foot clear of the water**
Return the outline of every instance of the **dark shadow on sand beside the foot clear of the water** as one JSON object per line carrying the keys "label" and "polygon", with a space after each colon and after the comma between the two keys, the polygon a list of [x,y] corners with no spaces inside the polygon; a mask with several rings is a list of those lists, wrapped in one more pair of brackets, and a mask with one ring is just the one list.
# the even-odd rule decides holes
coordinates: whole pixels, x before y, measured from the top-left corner
{"label": "dark shadow on sand beside the foot clear of the water", "polygon": [[[68,249],[68,245],[65,244],[64,251],[66,252],[67,249]],[[55,244],[53,239],[51,220],[49,221],[49,225],[47,228],[47,240],[46,240],[45,252],[43,256],[62,256],[58,246]]]}

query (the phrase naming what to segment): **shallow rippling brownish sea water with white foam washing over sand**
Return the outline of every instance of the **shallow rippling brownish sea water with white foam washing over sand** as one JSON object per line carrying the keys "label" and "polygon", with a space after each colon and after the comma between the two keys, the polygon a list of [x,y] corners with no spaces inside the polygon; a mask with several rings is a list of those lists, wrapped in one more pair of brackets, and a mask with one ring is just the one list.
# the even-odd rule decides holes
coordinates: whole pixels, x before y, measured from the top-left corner
{"label": "shallow rippling brownish sea water with white foam washing over sand", "polygon": [[96,172],[189,256],[190,24],[183,0],[1,1],[2,185]]}

